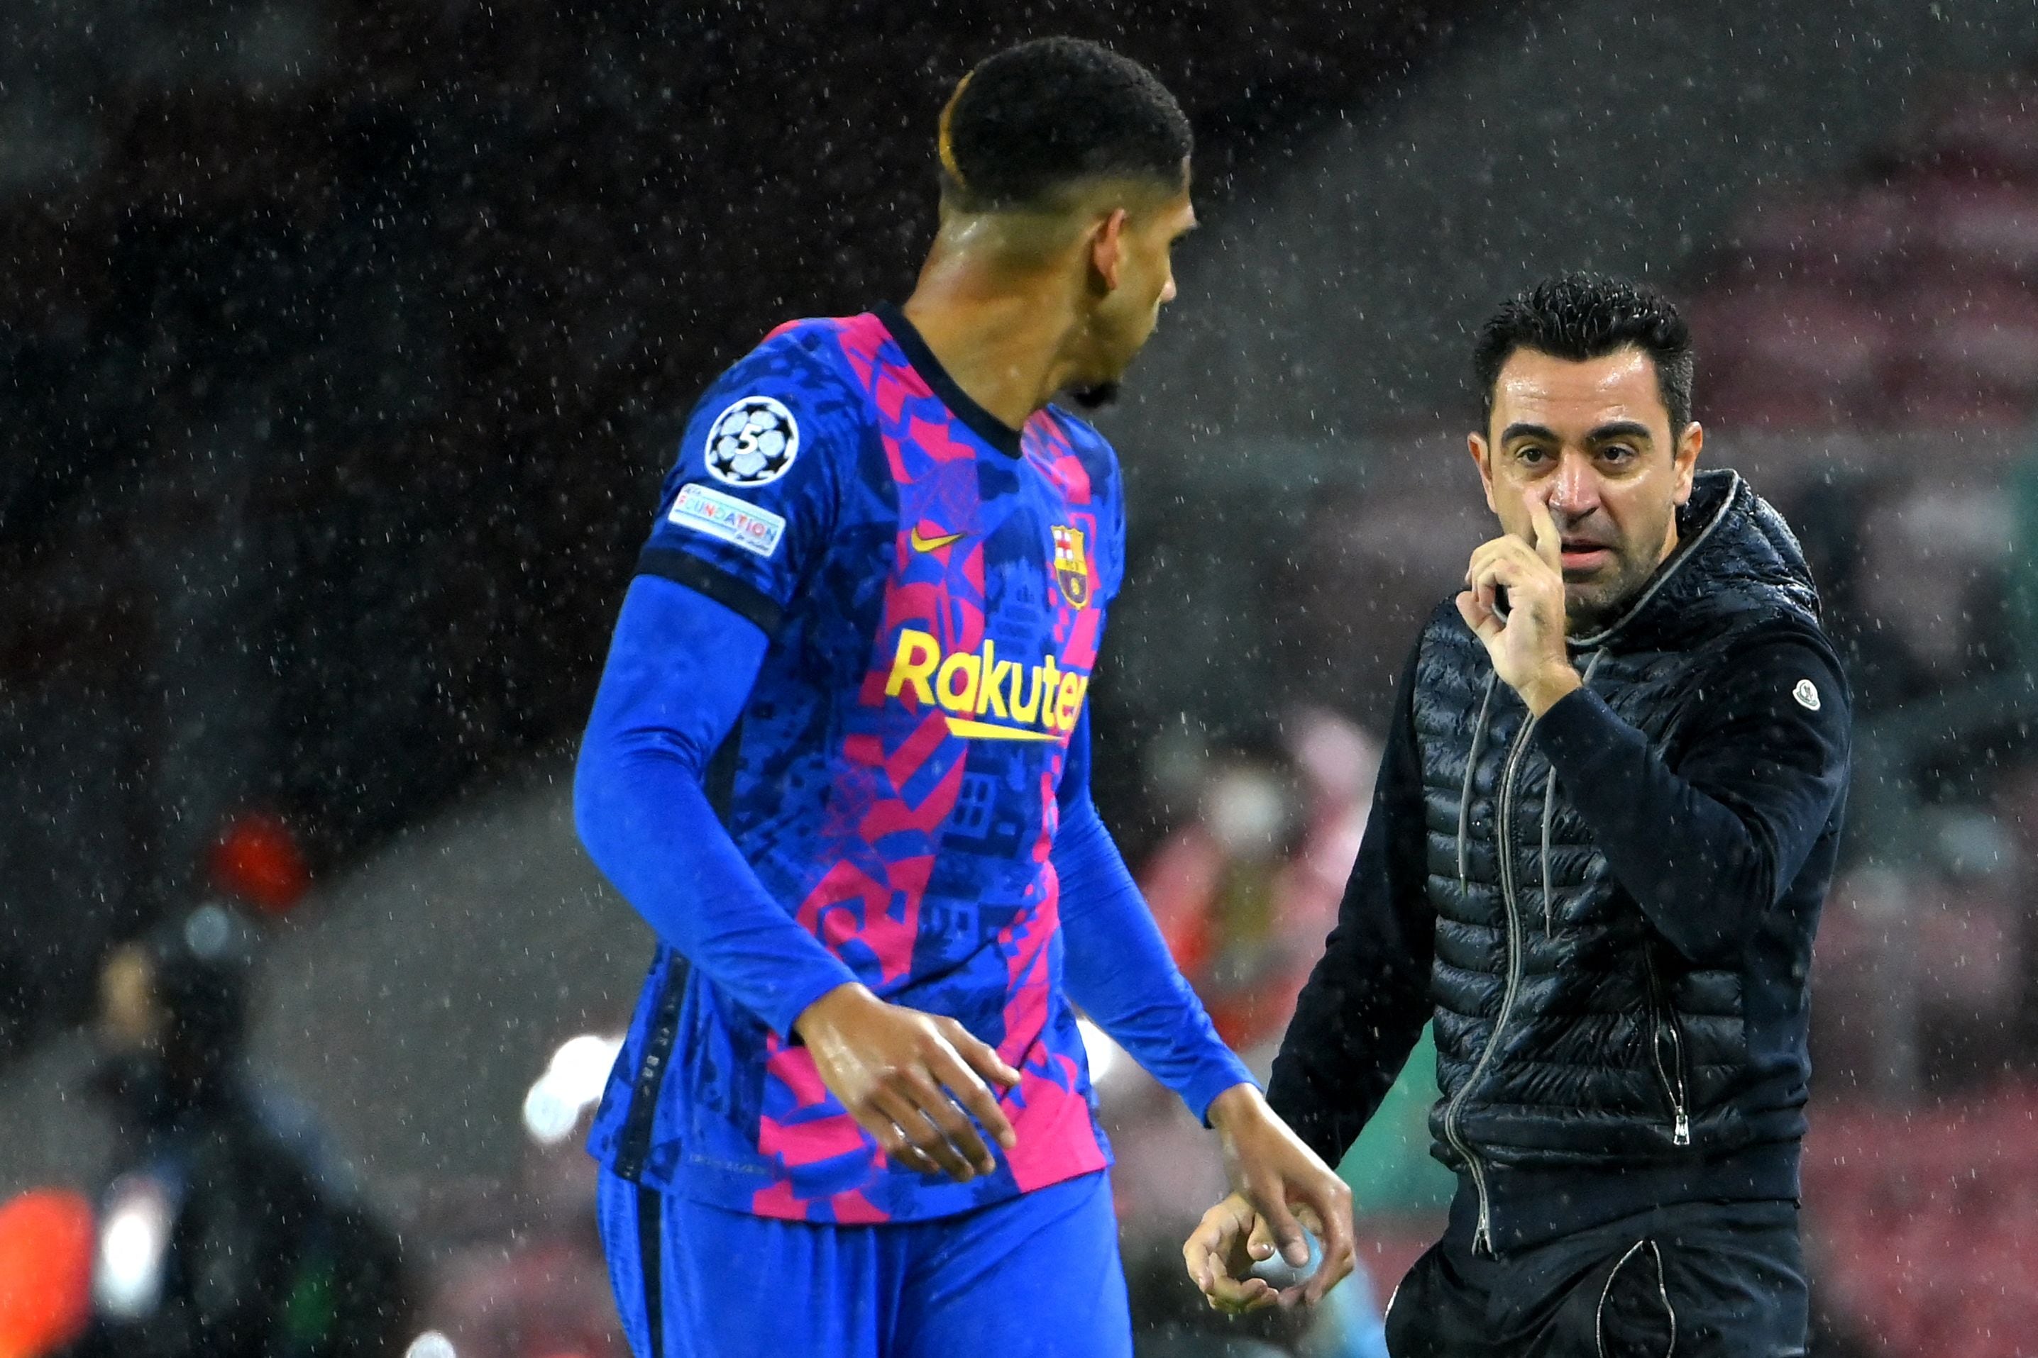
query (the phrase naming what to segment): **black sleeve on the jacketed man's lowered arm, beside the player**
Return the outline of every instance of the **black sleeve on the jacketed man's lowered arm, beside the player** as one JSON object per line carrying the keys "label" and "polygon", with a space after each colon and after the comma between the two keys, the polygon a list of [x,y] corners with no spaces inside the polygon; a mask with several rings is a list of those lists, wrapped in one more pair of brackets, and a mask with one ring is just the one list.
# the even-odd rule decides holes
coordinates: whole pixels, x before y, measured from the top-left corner
{"label": "black sleeve on the jacketed man's lowered arm, beside the player", "polygon": [[1274,1059],[1268,1104],[1337,1165],[1380,1108],[1423,1036],[1437,914],[1414,743],[1414,656],[1374,784],[1359,857]]}

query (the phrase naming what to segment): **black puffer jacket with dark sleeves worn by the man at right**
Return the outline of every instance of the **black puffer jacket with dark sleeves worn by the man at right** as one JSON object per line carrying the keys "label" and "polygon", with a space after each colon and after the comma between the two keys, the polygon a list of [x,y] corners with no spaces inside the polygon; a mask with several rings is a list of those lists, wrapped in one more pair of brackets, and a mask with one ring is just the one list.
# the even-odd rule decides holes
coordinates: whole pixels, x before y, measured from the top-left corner
{"label": "black puffer jacket with dark sleeves worn by the man at right", "polygon": [[1435,1154],[1488,1248],[1795,1197],[1848,704],[1783,519],[1700,476],[1679,550],[1531,721],[1445,603],[1270,1097],[1333,1163],[1437,1020]]}

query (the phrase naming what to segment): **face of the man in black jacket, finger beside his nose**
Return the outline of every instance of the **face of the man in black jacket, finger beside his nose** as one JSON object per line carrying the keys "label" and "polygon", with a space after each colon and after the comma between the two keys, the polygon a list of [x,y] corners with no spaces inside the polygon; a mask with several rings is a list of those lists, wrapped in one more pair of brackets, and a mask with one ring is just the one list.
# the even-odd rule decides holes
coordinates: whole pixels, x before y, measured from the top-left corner
{"label": "face of the man in black jacket, finger beside his nose", "polygon": [[1698,423],[1669,428],[1655,362],[1639,348],[1584,362],[1514,350],[1486,432],[1469,438],[1504,531],[1535,542],[1528,505],[1549,505],[1573,633],[1606,623],[1677,546],[1702,442]]}

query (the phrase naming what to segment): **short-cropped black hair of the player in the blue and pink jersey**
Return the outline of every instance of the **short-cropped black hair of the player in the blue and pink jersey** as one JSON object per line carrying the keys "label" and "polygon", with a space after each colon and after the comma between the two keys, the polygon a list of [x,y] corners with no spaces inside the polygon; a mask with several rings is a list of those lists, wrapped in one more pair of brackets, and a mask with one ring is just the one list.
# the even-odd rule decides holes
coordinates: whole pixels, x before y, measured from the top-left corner
{"label": "short-cropped black hair of the player in the blue and pink jersey", "polygon": [[1186,187],[1194,136],[1149,69],[1082,39],[986,59],[942,110],[942,197],[964,212],[1052,208],[1088,179]]}

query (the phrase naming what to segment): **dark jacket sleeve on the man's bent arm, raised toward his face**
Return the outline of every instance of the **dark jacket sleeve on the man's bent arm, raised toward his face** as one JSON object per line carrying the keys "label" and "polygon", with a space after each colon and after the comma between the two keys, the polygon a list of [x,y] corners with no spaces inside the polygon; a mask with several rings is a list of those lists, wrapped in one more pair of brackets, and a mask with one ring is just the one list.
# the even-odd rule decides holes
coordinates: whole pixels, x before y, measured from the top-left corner
{"label": "dark jacket sleeve on the man's bent arm, raised toward his face", "polygon": [[1655,930],[1712,963],[1740,953],[1832,821],[1851,715],[1832,654],[1795,631],[1740,647],[1698,704],[1673,757],[1584,688],[1537,739]]}

